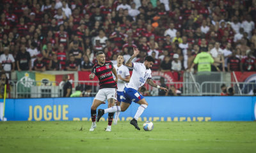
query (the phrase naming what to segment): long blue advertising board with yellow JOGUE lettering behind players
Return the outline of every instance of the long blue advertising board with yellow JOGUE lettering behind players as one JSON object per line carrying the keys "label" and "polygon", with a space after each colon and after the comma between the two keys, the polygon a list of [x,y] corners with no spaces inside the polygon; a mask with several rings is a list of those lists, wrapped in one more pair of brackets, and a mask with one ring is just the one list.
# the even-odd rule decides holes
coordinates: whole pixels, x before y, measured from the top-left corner
{"label": "long blue advertising board with yellow JOGUE lettering behind players", "polygon": [[[139,120],[228,121],[255,120],[252,96],[146,97],[147,109]],[[93,98],[6,99],[7,120],[90,120]],[[108,104],[99,108],[107,108]],[[138,104],[120,113],[120,120],[131,120]],[[108,119],[108,114],[102,120]]]}

